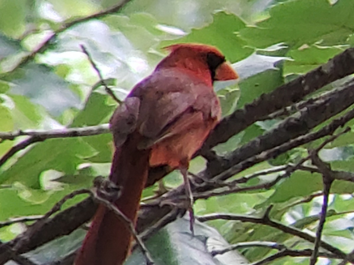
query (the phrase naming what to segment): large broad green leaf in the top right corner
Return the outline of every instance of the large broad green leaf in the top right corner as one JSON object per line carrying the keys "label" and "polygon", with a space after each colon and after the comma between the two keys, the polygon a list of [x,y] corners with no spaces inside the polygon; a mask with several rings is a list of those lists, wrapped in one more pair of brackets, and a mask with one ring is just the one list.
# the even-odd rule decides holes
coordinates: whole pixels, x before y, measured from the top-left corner
{"label": "large broad green leaf in the top right corner", "polygon": [[[354,30],[354,2],[341,0],[293,0],[274,5],[269,18],[240,31],[249,45],[267,47],[285,42],[290,47],[321,41],[322,45],[345,44]],[[316,14],[316,15],[314,15]]]}

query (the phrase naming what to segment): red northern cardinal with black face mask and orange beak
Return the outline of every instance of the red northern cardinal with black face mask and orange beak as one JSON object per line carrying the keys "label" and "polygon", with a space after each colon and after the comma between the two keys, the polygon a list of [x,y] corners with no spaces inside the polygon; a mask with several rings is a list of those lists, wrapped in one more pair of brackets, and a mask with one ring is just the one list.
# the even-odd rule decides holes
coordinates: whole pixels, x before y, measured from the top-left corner
{"label": "red northern cardinal with black face mask and orange beak", "polygon": [[[215,47],[186,43],[166,49],[170,55],[133,88],[110,121],[115,144],[110,181],[122,189],[115,205],[134,224],[149,167],[178,168],[188,182],[192,155],[221,117],[213,82],[238,78]],[[121,265],[131,241],[115,213],[100,205],[75,265]]]}

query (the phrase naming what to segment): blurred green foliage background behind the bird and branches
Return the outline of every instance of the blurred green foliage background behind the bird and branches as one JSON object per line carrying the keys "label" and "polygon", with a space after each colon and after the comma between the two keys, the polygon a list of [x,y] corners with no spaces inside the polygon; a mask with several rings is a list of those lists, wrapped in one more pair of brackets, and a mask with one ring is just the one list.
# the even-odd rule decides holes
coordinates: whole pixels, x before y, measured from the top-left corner
{"label": "blurred green foliage background behind the bird and branches", "polygon": [[[115,4],[112,0],[0,0],[0,131],[64,129],[109,121],[116,102],[100,86],[97,73],[80,45],[87,48],[104,79],[122,100],[165,55],[162,47],[177,42],[215,45],[241,77],[235,86],[225,88],[224,84],[217,84],[226,116],[261,94],[326,63],[354,42],[352,0],[132,0],[119,13],[89,17]],[[70,24],[81,18],[80,23]],[[344,81],[332,83],[308,98],[338,87]],[[219,155],[227,155],[272,131],[285,118],[259,120],[215,150]],[[348,125],[352,126],[353,121]],[[0,167],[0,221],[44,214],[64,195],[91,187],[98,175],[107,176],[112,156],[111,138],[110,134],[100,134],[48,139],[17,152]],[[22,136],[0,141],[0,156],[25,139]],[[350,131],[331,142],[320,151],[321,159],[334,170],[352,172],[352,139]],[[306,157],[308,148],[315,148],[321,141],[257,164],[233,179],[297,163]],[[198,157],[190,171],[198,173],[204,168],[205,160]],[[281,173],[259,176],[243,185],[271,181]],[[181,181],[178,173],[173,172],[164,179],[164,184],[175,188]],[[153,196],[156,188],[155,185],[146,189],[143,196]],[[262,216],[273,205],[274,220],[314,235],[322,206],[322,189],[319,173],[296,171],[268,189],[198,200],[195,211],[198,215],[225,212]],[[346,253],[352,251],[354,243],[353,190],[351,182],[333,183],[329,196],[331,215],[326,219],[322,235],[323,240]],[[83,198],[76,196],[64,208]],[[208,225],[216,228],[229,243],[274,241],[293,249],[313,247],[310,242],[264,225],[226,220]],[[167,233],[171,235],[183,226],[175,223],[174,228],[169,226],[165,231],[172,229]],[[23,223],[6,225],[0,228],[0,239],[12,240],[25,229]],[[222,241],[217,235],[219,242]],[[37,249],[28,257],[39,264],[48,263],[75,250],[83,236],[83,230],[75,231],[71,237],[60,238],[61,241],[45,250]],[[156,236],[155,241],[159,241],[164,235]],[[206,237],[212,238],[210,234]],[[183,240],[177,242],[179,248],[185,244]],[[152,238],[152,248],[156,244]],[[191,264],[190,249],[187,247],[182,252],[187,261],[173,251],[174,263],[171,257],[161,258],[164,260],[161,262]],[[253,262],[277,251],[249,247],[240,253]],[[272,264],[307,264],[308,259],[285,257]],[[222,264],[246,262],[235,260],[234,257]],[[336,259],[319,258],[317,264],[338,263]]]}

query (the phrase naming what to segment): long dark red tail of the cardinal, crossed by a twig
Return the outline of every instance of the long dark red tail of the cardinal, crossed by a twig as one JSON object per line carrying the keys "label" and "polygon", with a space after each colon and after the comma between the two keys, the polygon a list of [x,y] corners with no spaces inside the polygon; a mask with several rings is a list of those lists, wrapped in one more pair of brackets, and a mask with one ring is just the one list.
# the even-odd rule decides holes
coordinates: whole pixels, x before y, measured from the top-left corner
{"label": "long dark red tail of the cardinal, crossed by a twig", "polygon": [[[131,135],[115,150],[110,180],[121,186],[115,205],[135,224],[142,190],[148,177],[149,151],[138,150]],[[130,252],[132,235],[116,214],[99,205],[75,265],[121,265]]]}

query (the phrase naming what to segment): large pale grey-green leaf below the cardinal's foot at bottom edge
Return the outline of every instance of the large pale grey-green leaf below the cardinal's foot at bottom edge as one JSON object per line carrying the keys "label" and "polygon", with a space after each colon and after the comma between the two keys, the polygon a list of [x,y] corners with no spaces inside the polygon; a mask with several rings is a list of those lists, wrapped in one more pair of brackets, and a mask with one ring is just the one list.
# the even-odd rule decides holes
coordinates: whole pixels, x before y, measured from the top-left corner
{"label": "large pale grey-green leaf below the cardinal's foot at bottom edge", "polygon": [[[246,259],[237,251],[212,257],[210,252],[228,246],[224,238],[213,228],[198,221],[195,235],[191,237],[189,220],[178,218],[152,236],[146,243],[156,265],[240,265]],[[125,265],[144,264],[145,258],[137,249],[124,263]]]}

